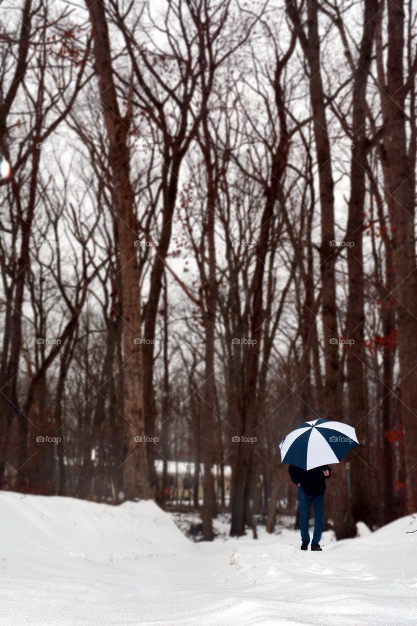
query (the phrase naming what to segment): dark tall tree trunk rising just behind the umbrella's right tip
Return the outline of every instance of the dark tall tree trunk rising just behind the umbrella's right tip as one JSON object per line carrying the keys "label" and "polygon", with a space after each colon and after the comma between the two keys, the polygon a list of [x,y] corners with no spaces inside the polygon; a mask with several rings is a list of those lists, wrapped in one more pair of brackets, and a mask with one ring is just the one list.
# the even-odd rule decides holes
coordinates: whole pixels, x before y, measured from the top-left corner
{"label": "dark tall tree trunk rising just behind the umbrella's right tip", "polygon": [[[353,151],[351,158],[351,190],[349,217],[346,230],[348,254],[349,297],[346,319],[346,336],[351,343],[347,354],[348,422],[358,424],[359,442],[369,440],[368,394],[366,389],[366,363],[364,344],[364,264],[363,264],[363,214],[366,195],[366,87],[371,66],[371,57],[376,28],[375,16],[379,6],[377,0],[366,0],[364,4],[364,26],[353,81]],[[366,448],[359,448],[351,458],[352,504],[343,536],[356,534],[356,521],[363,520],[369,526],[375,523],[371,500],[371,469]]]}

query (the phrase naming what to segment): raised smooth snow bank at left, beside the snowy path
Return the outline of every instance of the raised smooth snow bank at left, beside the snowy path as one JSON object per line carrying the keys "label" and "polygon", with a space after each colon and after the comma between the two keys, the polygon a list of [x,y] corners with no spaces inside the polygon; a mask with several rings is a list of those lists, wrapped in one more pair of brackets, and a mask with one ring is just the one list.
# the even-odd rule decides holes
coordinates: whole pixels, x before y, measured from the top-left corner
{"label": "raised smooth snow bank at left, beside the snowy path", "polygon": [[190,544],[150,500],[111,506],[1,491],[0,529],[3,555],[81,556],[96,563],[175,555]]}

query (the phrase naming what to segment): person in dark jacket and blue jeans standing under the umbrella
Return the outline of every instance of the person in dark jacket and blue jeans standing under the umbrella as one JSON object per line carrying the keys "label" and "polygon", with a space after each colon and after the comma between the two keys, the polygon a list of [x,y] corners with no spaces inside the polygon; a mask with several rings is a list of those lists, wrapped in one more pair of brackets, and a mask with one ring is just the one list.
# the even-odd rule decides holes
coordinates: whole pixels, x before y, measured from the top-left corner
{"label": "person in dark jacket and blue jeans standing under the umbrella", "polygon": [[321,552],[320,540],[324,523],[324,491],[326,480],[331,476],[331,468],[321,465],[313,469],[302,469],[296,465],[288,468],[290,478],[298,487],[298,506],[300,511],[301,550],[308,550],[310,543],[309,519],[311,505],[314,506],[314,534],[311,550]]}

